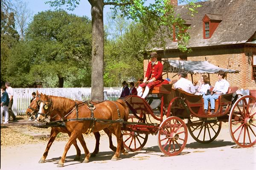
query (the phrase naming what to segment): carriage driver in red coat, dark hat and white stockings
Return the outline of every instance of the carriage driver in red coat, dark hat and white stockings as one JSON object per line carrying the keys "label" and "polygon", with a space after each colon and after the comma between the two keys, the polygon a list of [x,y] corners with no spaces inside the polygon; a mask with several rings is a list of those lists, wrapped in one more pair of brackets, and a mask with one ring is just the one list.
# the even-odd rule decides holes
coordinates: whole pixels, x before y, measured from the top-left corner
{"label": "carriage driver in red coat, dark hat and white stockings", "polygon": [[[138,96],[143,99],[148,96],[149,89],[154,88],[154,86],[163,82],[162,73],[163,73],[163,64],[160,61],[157,61],[159,55],[156,52],[150,54],[151,62],[148,63],[147,72],[143,83],[137,88]],[[143,92],[143,88],[145,91]]]}

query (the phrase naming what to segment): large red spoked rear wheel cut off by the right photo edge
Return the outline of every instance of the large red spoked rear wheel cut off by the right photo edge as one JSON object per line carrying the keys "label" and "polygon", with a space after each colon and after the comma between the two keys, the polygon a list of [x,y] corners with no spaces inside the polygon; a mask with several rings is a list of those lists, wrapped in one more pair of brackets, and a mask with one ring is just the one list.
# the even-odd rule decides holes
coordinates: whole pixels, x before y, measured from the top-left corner
{"label": "large red spoked rear wheel cut off by the right photo edge", "polygon": [[233,141],[240,147],[256,143],[256,98],[242,96],[232,106],[229,115],[229,130]]}

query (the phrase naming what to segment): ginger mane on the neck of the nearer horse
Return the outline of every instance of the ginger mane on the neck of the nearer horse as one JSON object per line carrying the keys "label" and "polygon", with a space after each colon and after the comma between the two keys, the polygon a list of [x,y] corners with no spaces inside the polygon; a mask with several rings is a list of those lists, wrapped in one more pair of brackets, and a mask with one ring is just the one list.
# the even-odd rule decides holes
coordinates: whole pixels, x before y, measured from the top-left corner
{"label": "ginger mane on the neck of the nearer horse", "polygon": [[65,97],[48,96],[48,98],[52,100],[52,107],[59,111],[69,112],[76,105],[74,100]]}

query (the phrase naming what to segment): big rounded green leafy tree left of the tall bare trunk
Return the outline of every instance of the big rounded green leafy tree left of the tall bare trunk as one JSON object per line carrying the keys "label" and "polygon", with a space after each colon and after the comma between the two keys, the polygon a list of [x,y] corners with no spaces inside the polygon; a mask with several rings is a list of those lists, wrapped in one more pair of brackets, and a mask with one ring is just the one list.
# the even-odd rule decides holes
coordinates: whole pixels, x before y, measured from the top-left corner
{"label": "big rounded green leafy tree left of the tall bare trunk", "polygon": [[[73,81],[75,87],[90,86],[91,23],[87,17],[63,10],[38,13],[29,24],[24,43],[29,47],[27,53],[17,47],[9,59],[10,68],[26,73],[29,84],[23,82],[24,85],[43,81],[46,87],[61,88],[65,82],[69,81],[70,85]],[[26,60],[24,57],[30,59],[29,74],[21,65]],[[19,80],[11,70],[8,73],[12,79]],[[70,78],[76,76],[81,82]],[[19,82],[22,80],[17,81],[17,86],[22,85]]]}

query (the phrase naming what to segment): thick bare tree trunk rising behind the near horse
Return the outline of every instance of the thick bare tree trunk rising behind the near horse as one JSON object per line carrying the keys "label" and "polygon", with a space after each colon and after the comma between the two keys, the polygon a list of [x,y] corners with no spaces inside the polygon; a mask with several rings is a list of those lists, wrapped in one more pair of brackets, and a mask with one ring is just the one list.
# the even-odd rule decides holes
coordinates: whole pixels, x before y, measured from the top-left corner
{"label": "thick bare tree trunk rising behind the near horse", "polygon": [[92,8],[92,93],[91,99],[104,100],[103,62],[104,62],[104,31],[103,31],[103,0],[89,0]]}

